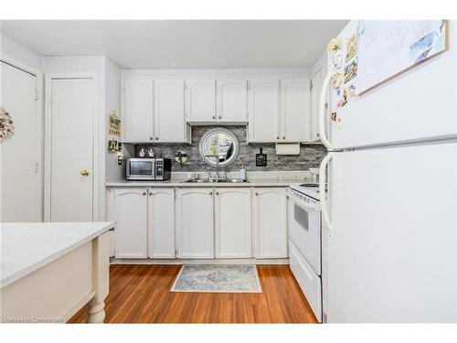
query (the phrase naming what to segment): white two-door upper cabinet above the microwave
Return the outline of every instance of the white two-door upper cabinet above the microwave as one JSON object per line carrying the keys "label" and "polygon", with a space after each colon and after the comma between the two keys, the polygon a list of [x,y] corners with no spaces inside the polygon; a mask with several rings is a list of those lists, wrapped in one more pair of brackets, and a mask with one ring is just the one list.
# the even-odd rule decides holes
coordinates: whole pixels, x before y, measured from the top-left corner
{"label": "white two-door upper cabinet above the microwave", "polygon": [[123,81],[123,142],[190,143],[184,80]]}

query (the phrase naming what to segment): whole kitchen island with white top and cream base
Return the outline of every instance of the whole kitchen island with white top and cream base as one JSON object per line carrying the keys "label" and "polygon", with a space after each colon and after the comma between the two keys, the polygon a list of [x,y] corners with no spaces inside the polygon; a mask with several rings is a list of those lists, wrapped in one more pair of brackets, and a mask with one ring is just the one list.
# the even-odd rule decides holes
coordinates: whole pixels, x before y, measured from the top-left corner
{"label": "whole kitchen island with white top and cream base", "polygon": [[115,222],[1,223],[0,319],[64,323],[84,305],[102,323]]}

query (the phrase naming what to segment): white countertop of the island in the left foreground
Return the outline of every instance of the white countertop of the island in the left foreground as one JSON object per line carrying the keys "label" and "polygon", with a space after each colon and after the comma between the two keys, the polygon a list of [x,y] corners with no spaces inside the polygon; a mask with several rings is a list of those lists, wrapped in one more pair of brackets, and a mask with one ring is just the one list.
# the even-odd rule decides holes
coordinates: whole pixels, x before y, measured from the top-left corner
{"label": "white countertop of the island in the left foreground", "polygon": [[113,221],[0,223],[0,288],[115,227]]}

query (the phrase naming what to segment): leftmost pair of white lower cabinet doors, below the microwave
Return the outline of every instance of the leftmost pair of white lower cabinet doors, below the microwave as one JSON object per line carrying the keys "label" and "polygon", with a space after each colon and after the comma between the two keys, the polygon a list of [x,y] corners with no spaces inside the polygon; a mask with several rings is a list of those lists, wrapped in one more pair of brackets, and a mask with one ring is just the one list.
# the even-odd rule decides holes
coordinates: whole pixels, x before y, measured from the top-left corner
{"label": "leftmost pair of white lower cabinet doors, below the microwave", "polygon": [[117,188],[115,257],[175,258],[175,189]]}

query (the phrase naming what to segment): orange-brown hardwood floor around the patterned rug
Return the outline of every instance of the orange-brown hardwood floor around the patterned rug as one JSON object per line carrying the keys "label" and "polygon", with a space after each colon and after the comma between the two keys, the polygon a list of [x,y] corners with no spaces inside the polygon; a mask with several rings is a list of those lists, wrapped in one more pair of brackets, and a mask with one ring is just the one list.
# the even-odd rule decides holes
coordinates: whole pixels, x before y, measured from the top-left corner
{"label": "orange-brown hardwood floor around the patterned rug", "polygon": [[[110,268],[106,323],[316,323],[288,265],[258,265],[262,293],[171,293],[180,265]],[[84,323],[86,309],[69,323]]]}

